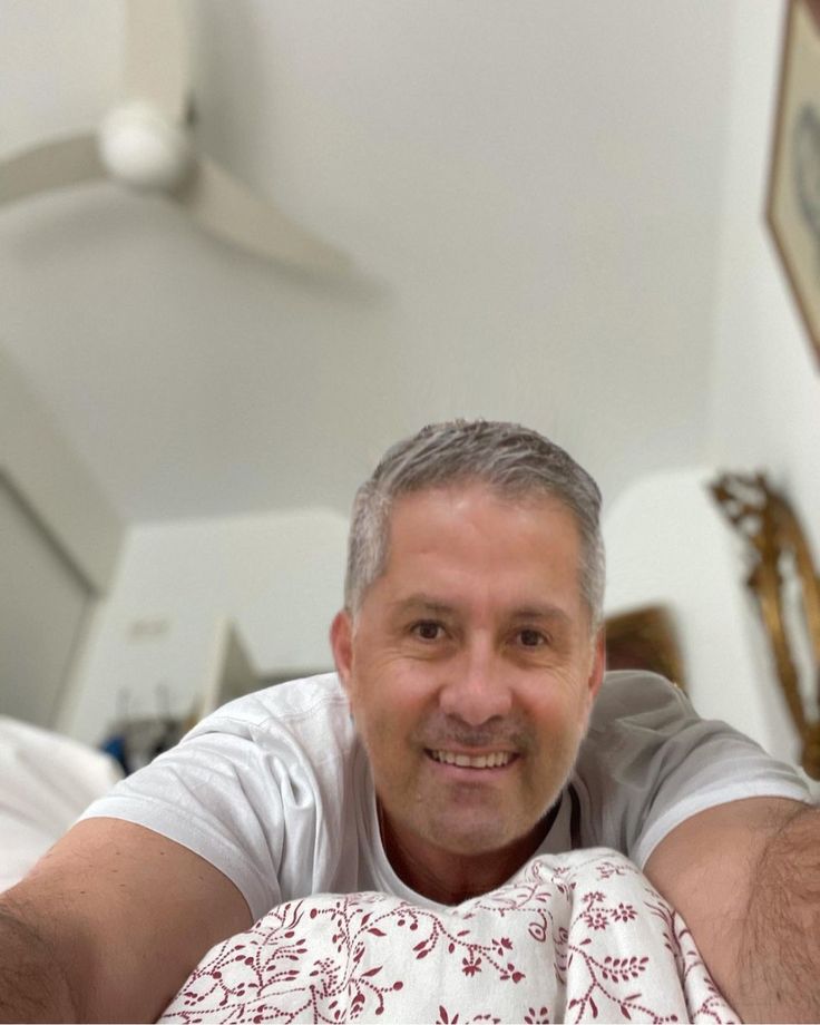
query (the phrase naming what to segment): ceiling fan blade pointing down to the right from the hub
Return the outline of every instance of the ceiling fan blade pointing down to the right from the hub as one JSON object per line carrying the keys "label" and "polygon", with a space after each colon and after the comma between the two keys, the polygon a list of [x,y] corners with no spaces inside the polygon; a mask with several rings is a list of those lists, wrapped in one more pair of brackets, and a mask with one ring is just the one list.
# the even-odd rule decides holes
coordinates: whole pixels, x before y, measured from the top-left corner
{"label": "ceiling fan blade pointing down to the right from the hub", "polygon": [[299,227],[206,158],[172,195],[207,231],[260,256],[309,271],[340,271],[350,264],[344,253]]}

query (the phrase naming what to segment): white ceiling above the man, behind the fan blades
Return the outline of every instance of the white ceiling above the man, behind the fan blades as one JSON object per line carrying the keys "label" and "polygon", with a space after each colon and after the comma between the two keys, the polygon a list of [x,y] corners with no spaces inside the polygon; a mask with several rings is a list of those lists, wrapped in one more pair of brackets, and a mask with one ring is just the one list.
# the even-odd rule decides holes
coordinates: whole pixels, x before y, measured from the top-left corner
{"label": "white ceiling above the man, behind the fan blades", "polygon": [[[729,0],[199,0],[199,144],[357,273],[158,199],[0,207],[0,345],[130,520],[346,511],[450,416],[556,438],[609,497],[700,458]],[[114,0],[0,0],[0,154],[116,100]]]}

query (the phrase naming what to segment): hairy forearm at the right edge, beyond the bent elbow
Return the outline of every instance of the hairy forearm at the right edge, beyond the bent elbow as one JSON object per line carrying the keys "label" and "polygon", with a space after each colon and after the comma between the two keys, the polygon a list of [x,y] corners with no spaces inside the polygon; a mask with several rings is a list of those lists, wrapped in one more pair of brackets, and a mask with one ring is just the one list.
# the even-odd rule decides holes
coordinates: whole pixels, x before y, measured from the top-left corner
{"label": "hairy forearm at the right edge, beyond the bent elbow", "polygon": [[820,1022],[820,809],[789,819],[753,873],[735,1009],[746,1022]]}

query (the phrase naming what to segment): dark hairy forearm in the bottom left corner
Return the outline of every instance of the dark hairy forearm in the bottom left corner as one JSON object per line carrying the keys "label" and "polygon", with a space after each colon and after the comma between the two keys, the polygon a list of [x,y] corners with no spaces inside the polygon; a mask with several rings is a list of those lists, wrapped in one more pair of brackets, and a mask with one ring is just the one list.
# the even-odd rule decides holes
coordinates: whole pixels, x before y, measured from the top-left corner
{"label": "dark hairy forearm in the bottom left corner", "polygon": [[0,1022],[79,1022],[49,944],[7,900],[0,904]]}

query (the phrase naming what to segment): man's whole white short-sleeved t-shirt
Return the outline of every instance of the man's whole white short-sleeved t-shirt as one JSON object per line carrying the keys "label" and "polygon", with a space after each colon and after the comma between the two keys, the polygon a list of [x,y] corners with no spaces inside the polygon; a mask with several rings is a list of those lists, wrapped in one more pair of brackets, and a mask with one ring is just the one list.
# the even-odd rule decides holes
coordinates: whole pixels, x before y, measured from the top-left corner
{"label": "man's whole white short-sleeved t-shirt", "polygon": [[[611,847],[643,867],[684,819],[761,795],[809,800],[793,769],[725,723],[701,720],[661,676],[609,673],[538,853]],[[357,890],[438,907],[387,859],[369,763],[334,673],[231,702],[84,818],[94,816],[201,855],[254,918],[297,897]]]}

